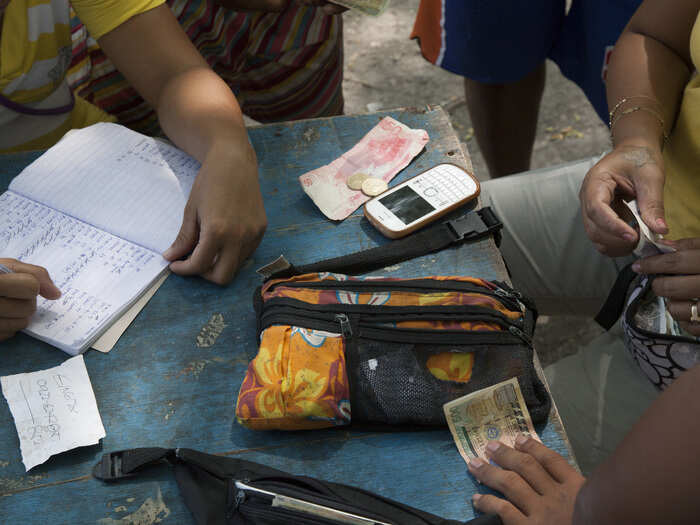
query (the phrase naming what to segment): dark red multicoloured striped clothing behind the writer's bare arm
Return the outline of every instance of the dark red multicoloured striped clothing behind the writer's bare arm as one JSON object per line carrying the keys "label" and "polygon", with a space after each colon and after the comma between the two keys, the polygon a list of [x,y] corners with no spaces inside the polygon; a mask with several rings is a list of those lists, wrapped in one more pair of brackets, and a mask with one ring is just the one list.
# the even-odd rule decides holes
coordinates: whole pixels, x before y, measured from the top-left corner
{"label": "dark red multicoloured striped clothing behind the writer's bare arm", "polygon": [[[343,110],[342,17],[290,2],[278,13],[240,12],[211,0],[168,0],[180,26],[260,122],[338,115]],[[153,108],[119,74],[74,18],[68,82],[121,124],[159,134]]]}

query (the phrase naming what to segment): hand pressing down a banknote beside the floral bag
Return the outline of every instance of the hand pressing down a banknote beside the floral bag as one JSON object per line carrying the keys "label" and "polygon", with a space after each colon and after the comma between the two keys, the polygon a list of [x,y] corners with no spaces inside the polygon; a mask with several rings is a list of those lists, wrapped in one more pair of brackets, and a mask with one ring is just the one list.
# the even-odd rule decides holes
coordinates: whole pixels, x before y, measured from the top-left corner
{"label": "hand pressing down a banknote beside the floral bag", "polygon": [[502,493],[475,494],[477,510],[498,514],[503,525],[570,525],[574,504],[586,478],[567,461],[535,439],[520,435],[515,448],[491,441],[488,459],[469,462],[469,472]]}

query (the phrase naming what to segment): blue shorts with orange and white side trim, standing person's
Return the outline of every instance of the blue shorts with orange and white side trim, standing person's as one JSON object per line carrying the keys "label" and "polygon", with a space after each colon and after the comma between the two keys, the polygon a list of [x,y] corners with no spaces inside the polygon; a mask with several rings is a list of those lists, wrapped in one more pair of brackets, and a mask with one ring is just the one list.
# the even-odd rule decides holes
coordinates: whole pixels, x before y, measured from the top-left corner
{"label": "blue shorts with orange and white side trim, standing person's", "polygon": [[546,58],[602,119],[613,45],[642,0],[421,0],[412,38],[434,64],[487,84],[520,80]]}

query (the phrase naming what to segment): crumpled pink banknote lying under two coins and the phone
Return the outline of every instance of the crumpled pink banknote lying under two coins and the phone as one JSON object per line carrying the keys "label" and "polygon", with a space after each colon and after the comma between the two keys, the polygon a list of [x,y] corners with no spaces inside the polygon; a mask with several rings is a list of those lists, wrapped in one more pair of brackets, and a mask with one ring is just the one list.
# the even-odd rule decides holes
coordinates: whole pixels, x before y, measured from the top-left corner
{"label": "crumpled pink banknote lying under two coins and the phone", "polygon": [[299,182],[326,217],[341,221],[370,199],[361,191],[348,188],[348,177],[366,173],[388,183],[428,140],[425,130],[411,129],[384,117],[350,151],[330,164],[304,173]]}

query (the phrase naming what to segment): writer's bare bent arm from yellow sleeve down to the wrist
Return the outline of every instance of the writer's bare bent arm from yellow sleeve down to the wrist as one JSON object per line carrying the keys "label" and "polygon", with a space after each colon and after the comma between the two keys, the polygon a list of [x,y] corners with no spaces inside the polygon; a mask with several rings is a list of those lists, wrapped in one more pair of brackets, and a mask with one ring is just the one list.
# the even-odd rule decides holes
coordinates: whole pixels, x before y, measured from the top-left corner
{"label": "writer's bare bent arm from yellow sleeve down to the wrist", "polygon": [[179,148],[200,162],[212,152],[234,162],[254,159],[236,97],[167,5],[130,18],[98,43],[156,109],[163,131]]}

